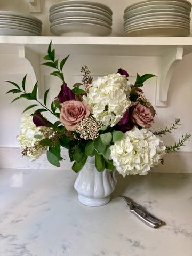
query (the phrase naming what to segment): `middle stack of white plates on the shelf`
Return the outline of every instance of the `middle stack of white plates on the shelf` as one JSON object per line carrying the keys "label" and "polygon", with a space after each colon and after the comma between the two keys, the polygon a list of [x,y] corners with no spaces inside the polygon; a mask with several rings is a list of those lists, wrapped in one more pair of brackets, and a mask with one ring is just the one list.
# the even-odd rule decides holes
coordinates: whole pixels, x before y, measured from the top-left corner
{"label": "middle stack of white plates on the shelf", "polygon": [[66,0],[50,7],[50,22],[57,36],[109,36],[112,11],[101,3]]}

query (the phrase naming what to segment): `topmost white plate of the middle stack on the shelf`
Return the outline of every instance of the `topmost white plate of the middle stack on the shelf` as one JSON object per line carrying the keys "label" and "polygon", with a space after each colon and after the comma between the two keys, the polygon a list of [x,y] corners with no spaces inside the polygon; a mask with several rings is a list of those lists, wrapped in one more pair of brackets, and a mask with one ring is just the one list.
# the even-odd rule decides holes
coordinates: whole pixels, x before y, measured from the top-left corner
{"label": "topmost white plate of the middle stack on the shelf", "polygon": [[52,11],[53,9],[57,9],[61,6],[65,6],[65,5],[70,5],[70,6],[75,6],[75,5],[78,5],[78,6],[90,6],[90,7],[97,7],[98,9],[101,9],[101,10],[106,10],[108,11],[110,14],[112,14],[112,11],[111,9],[105,5],[105,4],[101,4],[101,3],[95,3],[95,2],[89,2],[89,1],[74,1],[74,0],[68,0],[68,1],[62,1],[62,2],[59,2],[57,4],[54,4],[50,7],[50,11]]}

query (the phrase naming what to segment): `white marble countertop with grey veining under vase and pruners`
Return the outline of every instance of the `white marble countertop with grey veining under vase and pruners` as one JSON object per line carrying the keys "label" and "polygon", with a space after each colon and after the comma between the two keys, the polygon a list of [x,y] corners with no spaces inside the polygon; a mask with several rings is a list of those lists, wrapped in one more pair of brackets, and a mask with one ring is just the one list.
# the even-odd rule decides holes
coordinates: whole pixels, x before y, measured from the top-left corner
{"label": "white marble countertop with grey veining under vase and pruners", "polygon": [[[118,175],[111,201],[77,201],[77,174],[0,169],[1,256],[191,256],[192,174]],[[166,222],[153,229],[120,194]]]}

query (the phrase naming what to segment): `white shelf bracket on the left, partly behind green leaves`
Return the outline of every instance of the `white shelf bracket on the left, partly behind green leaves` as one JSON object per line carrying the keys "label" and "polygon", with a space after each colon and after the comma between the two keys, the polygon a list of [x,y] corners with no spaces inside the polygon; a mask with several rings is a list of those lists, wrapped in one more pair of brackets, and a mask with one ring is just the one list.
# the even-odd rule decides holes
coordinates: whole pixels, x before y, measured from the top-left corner
{"label": "white shelf bracket on the left, partly behind green leaves", "polygon": [[28,49],[26,46],[19,46],[18,54],[19,58],[26,60],[32,84],[35,85],[35,83],[38,81],[38,98],[41,99],[44,88],[42,87],[43,84],[41,81],[39,54]]}

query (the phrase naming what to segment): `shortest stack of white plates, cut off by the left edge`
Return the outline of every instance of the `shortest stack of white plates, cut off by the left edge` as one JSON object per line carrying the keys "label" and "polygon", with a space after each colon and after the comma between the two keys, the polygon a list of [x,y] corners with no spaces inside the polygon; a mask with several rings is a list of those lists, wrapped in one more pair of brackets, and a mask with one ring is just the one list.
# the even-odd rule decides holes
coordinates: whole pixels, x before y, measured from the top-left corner
{"label": "shortest stack of white plates, cut off by the left edge", "polygon": [[41,20],[12,11],[0,11],[0,35],[41,36]]}

